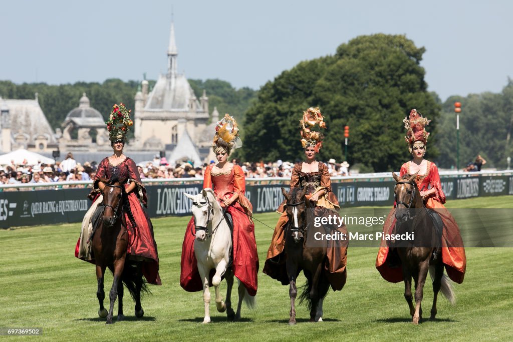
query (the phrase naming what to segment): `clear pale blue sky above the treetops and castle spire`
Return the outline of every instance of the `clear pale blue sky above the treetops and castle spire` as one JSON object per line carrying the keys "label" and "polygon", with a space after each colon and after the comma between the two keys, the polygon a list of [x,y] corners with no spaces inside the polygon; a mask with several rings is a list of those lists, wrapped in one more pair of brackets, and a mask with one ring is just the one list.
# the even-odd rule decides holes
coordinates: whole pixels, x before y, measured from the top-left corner
{"label": "clear pale blue sky above the treetops and castle spire", "polygon": [[500,92],[513,77],[510,1],[0,0],[0,79],[49,84],[156,79],[171,13],[178,68],[258,89],[300,61],[363,34],[406,34],[426,48],[430,91]]}

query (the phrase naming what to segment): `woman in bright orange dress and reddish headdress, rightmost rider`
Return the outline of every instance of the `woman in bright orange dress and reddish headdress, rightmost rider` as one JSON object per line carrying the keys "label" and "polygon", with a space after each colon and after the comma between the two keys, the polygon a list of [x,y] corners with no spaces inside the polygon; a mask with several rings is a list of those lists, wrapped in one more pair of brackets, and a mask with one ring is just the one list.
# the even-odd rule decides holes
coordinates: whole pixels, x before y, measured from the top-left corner
{"label": "woman in bright orange dress and reddish headdress, rightmost rider", "polygon": [[[413,159],[401,166],[400,176],[417,173],[415,182],[420,190],[420,195],[424,199],[424,206],[428,209],[434,209],[440,215],[444,224],[442,232],[442,260],[445,270],[452,281],[461,284],[463,283],[466,269],[465,248],[463,247],[460,229],[455,218],[444,207],[445,194],[442,191],[438,168],[435,163],[424,159],[427,137],[429,136],[424,126],[429,124],[430,120],[419,114],[417,110],[412,109],[409,119],[406,117],[403,120],[405,128],[408,130],[405,137],[406,142]],[[394,205],[394,209],[388,214],[383,226],[383,232],[386,234],[391,234],[396,225],[395,213]],[[390,267],[392,265],[390,265],[390,260],[388,259],[391,254],[389,252],[390,249],[386,241],[382,241],[376,258],[376,268],[384,279],[392,283],[399,283],[399,281],[403,280],[402,269],[400,265],[399,267]]]}

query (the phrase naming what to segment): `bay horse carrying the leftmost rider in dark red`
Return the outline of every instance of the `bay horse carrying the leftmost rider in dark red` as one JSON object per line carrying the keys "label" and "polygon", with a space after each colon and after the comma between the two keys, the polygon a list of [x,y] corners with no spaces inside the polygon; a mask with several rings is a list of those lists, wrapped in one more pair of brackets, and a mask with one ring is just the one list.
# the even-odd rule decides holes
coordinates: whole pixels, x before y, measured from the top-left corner
{"label": "bay horse carrying the leftmost rider in dark red", "polygon": [[[103,203],[100,205],[103,206],[104,212],[96,230],[93,230],[91,249],[96,264],[98,283],[96,292],[96,297],[100,303],[98,316],[107,317],[106,324],[111,324],[116,298],[119,298],[117,320],[125,318],[123,315],[123,284],[135,300],[135,316],[138,318],[144,315],[144,310],[141,307],[141,291],[148,292],[148,290],[146,281],[143,279],[142,261],[129,260],[127,257],[129,241],[125,212],[128,213],[134,227],[135,219],[123,186],[126,179],[101,178],[100,180],[105,184]],[[110,308],[108,313],[103,306],[105,298],[104,275],[107,267],[114,276],[109,293]]]}

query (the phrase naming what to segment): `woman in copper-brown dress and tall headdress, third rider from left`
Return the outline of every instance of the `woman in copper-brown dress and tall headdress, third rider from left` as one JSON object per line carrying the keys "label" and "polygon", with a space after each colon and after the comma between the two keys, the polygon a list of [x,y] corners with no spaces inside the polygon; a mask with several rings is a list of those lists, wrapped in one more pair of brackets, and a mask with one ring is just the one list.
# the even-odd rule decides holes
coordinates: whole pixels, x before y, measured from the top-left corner
{"label": "woman in copper-brown dress and tall headdress, third rider from left", "polygon": [[[290,179],[290,189],[306,188],[307,198],[310,200],[310,203],[314,203],[314,217],[327,217],[328,215],[336,215],[339,217],[336,211],[340,208],[339,202],[331,191],[331,179],[328,167],[315,160],[315,155],[317,155],[322,147],[322,135],[319,134],[319,132],[310,131],[310,128],[317,124],[321,128],[326,127],[319,108],[307,109],[304,112],[301,124],[303,126],[301,135],[303,137],[302,146],[305,149],[305,161],[294,165]],[[285,201],[277,210],[282,215],[274,228],[274,234],[272,235],[271,245],[267,252],[263,272],[273,279],[279,280],[282,285],[289,285],[285,268],[286,255],[284,252],[284,228],[288,223],[288,217],[286,211],[284,211],[284,204]],[[345,225],[326,228],[330,231],[337,230],[347,236],[347,228]],[[346,283],[347,240],[329,240],[327,242],[327,248],[325,269],[329,283],[333,290],[342,290]]]}

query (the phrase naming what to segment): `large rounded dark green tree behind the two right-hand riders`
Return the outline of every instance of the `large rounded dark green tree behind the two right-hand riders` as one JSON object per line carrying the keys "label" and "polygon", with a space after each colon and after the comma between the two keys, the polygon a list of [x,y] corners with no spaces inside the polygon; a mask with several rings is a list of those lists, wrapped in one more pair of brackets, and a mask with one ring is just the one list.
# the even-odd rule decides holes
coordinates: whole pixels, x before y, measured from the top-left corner
{"label": "large rounded dark green tree behind the two right-hand riders", "polygon": [[[408,158],[403,118],[416,108],[433,120],[432,133],[439,116],[420,66],[424,51],[403,35],[360,36],[339,46],[334,56],[283,72],[261,89],[246,114],[245,144],[251,148],[244,149],[244,157],[301,158],[302,111],[320,106],[327,122],[321,159],[343,159],[343,129],[349,125],[350,164],[367,171],[398,170]],[[433,144],[428,152],[437,155]]]}

